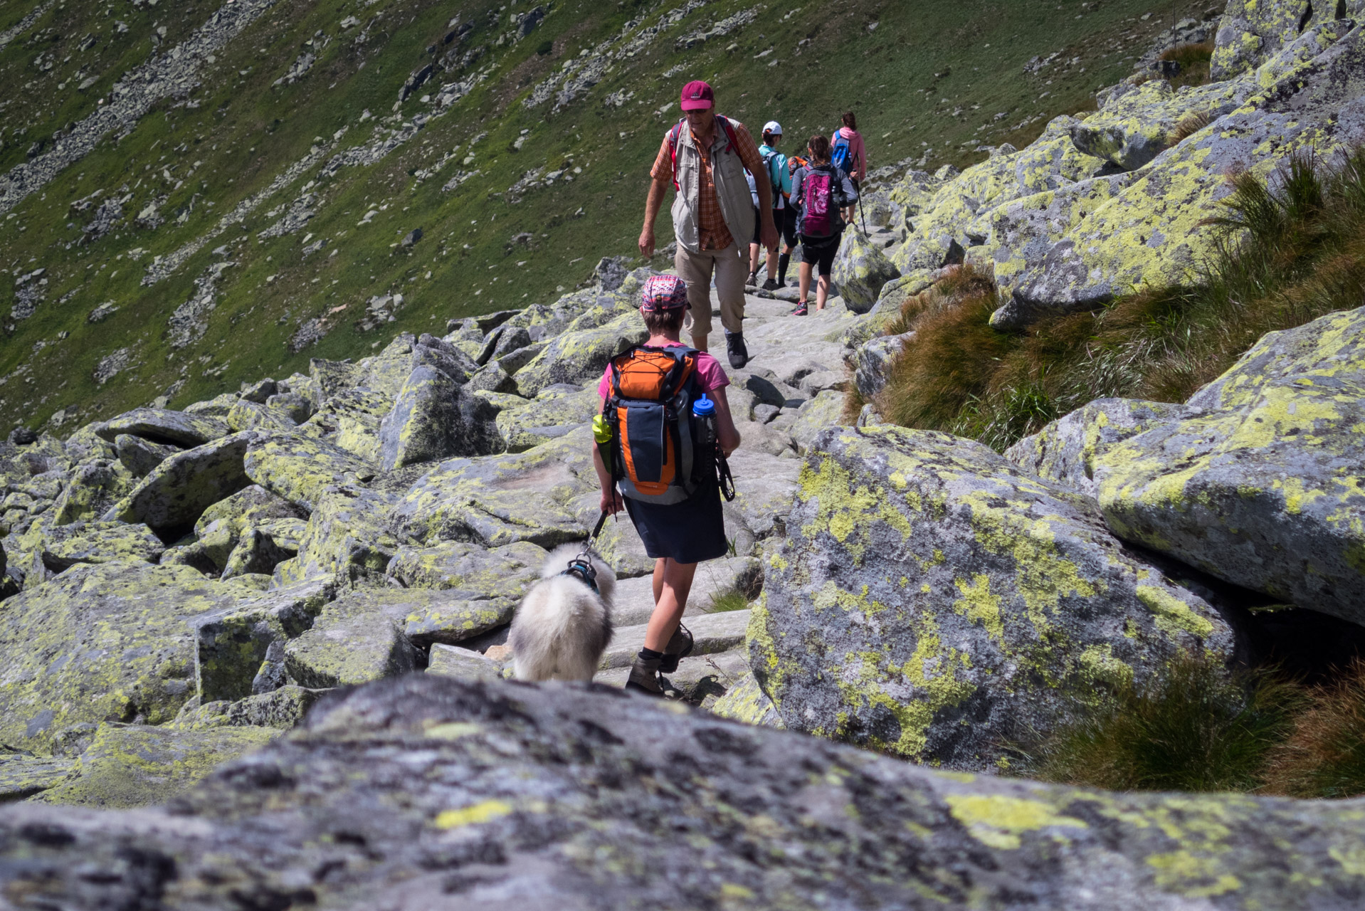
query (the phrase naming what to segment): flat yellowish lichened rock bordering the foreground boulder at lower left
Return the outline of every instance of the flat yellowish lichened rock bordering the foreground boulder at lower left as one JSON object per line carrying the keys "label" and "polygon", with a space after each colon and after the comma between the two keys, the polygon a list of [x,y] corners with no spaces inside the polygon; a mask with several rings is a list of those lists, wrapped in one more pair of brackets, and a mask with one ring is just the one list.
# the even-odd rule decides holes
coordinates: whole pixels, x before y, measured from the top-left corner
{"label": "flat yellowish lichened rock bordering the foreground boulder at lower left", "polygon": [[101,724],[76,773],[37,798],[83,807],[165,803],[213,769],[280,736],[276,728],[186,731],[145,724]]}

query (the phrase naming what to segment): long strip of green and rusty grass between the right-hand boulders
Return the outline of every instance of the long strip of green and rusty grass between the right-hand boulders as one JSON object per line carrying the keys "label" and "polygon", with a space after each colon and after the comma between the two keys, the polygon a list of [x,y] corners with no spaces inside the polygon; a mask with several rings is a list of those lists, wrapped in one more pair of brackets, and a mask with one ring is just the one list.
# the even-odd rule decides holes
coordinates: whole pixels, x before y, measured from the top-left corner
{"label": "long strip of green and rusty grass between the right-hand boulders", "polygon": [[878,395],[882,415],[1003,449],[1104,396],[1183,402],[1267,332],[1365,303],[1365,150],[1289,161],[1269,186],[1241,173],[1197,284],[1091,313],[992,329],[990,280],[969,266],[908,300],[913,331]]}

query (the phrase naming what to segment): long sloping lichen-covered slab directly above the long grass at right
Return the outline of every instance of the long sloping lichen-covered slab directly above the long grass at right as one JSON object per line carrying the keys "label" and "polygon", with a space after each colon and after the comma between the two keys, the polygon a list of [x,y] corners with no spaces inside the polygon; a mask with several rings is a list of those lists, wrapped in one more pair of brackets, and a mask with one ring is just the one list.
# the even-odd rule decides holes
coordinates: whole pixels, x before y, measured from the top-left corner
{"label": "long sloping lichen-covered slab directly above the long grass at right", "polygon": [[[1250,79],[1252,76],[1248,76]],[[1111,201],[1100,205],[1020,276],[1022,313],[1102,305],[1144,285],[1197,277],[1213,251],[1233,193],[1230,168],[1269,179],[1290,156],[1324,157],[1365,142],[1365,29],[1355,27],[1238,109],[1159,154]]]}

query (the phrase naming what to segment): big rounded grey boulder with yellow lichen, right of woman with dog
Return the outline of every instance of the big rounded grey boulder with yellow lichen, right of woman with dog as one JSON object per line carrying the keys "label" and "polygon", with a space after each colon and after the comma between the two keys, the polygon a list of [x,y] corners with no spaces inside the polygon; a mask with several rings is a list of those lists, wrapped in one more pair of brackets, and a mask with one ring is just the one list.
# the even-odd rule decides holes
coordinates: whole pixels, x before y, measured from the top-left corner
{"label": "big rounded grey boulder with yellow lichen, right of woman with dog", "polygon": [[1126,552],[1093,500],[987,447],[894,426],[812,447],[749,661],[793,729],[988,769],[1070,701],[1141,684],[1227,623]]}

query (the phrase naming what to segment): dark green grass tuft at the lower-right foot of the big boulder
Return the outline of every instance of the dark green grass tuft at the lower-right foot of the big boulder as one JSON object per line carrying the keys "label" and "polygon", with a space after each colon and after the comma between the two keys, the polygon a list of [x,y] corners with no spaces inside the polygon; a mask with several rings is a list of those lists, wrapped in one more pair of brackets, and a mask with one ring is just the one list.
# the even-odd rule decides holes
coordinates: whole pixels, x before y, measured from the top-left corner
{"label": "dark green grass tuft at the lower-right foot of the big boulder", "polygon": [[1147,687],[1078,706],[1017,770],[1112,791],[1254,791],[1304,705],[1294,683],[1181,654]]}

